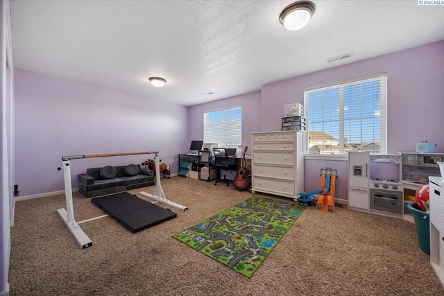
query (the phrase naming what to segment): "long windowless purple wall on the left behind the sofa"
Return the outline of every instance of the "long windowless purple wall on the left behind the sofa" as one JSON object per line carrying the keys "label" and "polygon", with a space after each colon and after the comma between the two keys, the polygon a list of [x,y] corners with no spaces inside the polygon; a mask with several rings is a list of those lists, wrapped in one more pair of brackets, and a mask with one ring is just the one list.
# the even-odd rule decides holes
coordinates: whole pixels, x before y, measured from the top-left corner
{"label": "long windowless purple wall on the left behind the sofa", "polygon": [[[149,86],[147,86],[149,87]],[[83,83],[15,71],[15,169],[20,195],[63,190],[63,155],[159,150],[178,171],[189,148],[187,107]],[[87,168],[141,164],[154,155],[71,160],[76,176]]]}

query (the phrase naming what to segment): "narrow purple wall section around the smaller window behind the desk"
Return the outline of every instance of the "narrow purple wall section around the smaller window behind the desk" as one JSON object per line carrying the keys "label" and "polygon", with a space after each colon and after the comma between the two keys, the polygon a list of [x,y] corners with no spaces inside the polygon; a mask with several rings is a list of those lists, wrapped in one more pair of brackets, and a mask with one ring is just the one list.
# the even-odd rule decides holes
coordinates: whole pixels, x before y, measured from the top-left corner
{"label": "narrow purple wall section around the smaller window behind the desk", "polygon": [[[189,107],[189,139],[203,139],[203,113],[228,107],[242,107],[242,145],[251,146],[250,132],[260,132],[261,92],[233,96],[223,100]],[[247,155],[251,155],[247,150]]]}

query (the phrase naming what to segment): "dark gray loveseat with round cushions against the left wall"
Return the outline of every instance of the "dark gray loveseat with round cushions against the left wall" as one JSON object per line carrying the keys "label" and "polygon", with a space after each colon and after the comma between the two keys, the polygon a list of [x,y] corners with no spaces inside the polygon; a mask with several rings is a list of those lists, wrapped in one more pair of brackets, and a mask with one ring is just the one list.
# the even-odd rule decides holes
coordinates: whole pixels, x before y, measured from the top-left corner
{"label": "dark gray loveseat with round cushions against the left wall", "polygon": [[128,166],[104,166],[87,168],[85,174],[77,175],[78,191],[85,198],[152,186],[154,172],[142,169],[139,164]]}

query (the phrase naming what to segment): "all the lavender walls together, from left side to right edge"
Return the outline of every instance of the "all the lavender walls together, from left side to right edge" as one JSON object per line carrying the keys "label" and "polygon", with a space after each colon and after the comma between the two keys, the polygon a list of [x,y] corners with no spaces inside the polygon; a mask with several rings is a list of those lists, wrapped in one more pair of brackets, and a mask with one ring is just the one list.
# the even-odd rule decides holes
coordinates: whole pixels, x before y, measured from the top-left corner
{"label": "all the lavender walls together, from left side to right edge", "polygon": [[[62,190],[62,155],[160,150],[177,172],[178,153],[203,139],[203,112],[242,106],[244,146],[250,132],[280,130],[283,105],[303,103],[307,87],[387,73],[388,153],[415,150],[427,137],[444,153],[444,41],[264,85],[261,92],[183,107],[26,71],[15,73],[16,175],[22,195]],[[86,106],[86,107],[85,107]],[[153,123],[156,123],[153,125]],[[184,132],[184,128],[187,129]],[[153,140],[154,139],[154,140]],[[250,153],[248,153],[250,154]],[[47,156],[46,156],[47,155]],[[145,157],[117,157],[113,164]],[[73,176],[111,159],[73,162]],[[339,171],[336,196],[347,199],[348,165],[305,159],[305,191],[318,189],[319,169]],[[74,178],[74,177],[73,177]],[[74,183],[76,186],[76,182]]]}

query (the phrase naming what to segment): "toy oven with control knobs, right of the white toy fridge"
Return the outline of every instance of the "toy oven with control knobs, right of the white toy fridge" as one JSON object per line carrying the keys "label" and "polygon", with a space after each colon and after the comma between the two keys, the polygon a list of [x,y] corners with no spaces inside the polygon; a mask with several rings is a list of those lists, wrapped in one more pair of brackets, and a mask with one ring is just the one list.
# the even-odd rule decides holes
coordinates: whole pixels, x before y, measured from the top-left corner
{"label": "toy oven with control knobs, right of the white toy fridge", "polygon": [[370,179],[370,211],[402,216],[404,184],[399,180]]}

